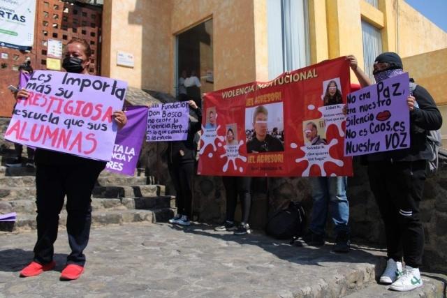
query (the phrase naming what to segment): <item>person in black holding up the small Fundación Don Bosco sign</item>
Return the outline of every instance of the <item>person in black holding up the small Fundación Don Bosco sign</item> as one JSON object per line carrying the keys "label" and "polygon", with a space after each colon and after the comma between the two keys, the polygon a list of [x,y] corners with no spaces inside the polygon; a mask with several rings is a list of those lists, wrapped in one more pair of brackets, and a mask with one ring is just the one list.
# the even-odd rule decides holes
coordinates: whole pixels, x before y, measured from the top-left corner
{"label": "person in black holding up the small Fundaci\u00f3n Don Bosco sign", "polygon": [[202,110],[194,100],[189,100],[188,103],[191,110],[196,112],[198,121],[189,121],[186,140],[168,143],[168,169],[177,194],[175,196],[177,214],[169,222],[177,225],[191,224],[189,218],[191,218],[192,186],[197,150],[194,137],[200,131],[202,124]]}

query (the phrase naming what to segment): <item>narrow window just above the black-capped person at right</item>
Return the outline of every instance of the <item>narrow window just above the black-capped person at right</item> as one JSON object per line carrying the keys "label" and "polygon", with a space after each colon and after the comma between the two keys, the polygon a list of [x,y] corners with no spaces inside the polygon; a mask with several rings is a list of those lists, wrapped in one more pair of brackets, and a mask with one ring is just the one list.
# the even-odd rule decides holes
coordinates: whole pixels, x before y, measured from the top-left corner
{"label": "narrow window just above the black-capped person at right", "polygon": [[379,29],[362,20],[363,59],[365,60],[365,73],[374,80],[372,65],[374,59],[383,52],[382,34]]}

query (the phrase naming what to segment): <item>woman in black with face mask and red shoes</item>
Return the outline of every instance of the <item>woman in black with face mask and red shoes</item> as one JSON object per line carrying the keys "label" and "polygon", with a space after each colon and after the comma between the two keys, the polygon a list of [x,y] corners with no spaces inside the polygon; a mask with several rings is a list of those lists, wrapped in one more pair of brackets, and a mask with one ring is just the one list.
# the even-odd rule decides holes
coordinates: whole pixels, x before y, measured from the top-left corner
{"label": "woman in black with face mask and red shoes", "polygon": [[[66,45],[63,67],[69,73],[88,74],[91,49],[82,38],[73,38]],[[22,89],[17,98],[28,98]],[[123,111],[113,113],[119,127],[127,122]],[[71,253],[61,279],[72,280],[84,271],[84,249],[89,241],[91,225],[91,191],[104,169],[105,161],[95,161],[66,153],[36,149],[37,242],[34,261],[20,271],[20,276],[36,276],[54,268],[53,244],[57,238],[59,213],[67,197],[67,233]]]}

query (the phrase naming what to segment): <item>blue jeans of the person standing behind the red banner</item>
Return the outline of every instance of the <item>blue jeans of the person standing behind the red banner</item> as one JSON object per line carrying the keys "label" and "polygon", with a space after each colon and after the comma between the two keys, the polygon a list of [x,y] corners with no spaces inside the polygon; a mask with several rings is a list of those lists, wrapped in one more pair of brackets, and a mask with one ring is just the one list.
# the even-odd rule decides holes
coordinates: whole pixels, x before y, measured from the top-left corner
{"label": "blue jeans of the person standing behind the red banner", "polygon": [[310,230],[316,234],[324,235],[328,208],[335,232],[349,233],[349,202],[346,197],[347,177],[309,177],[312,186],[312,222]]}

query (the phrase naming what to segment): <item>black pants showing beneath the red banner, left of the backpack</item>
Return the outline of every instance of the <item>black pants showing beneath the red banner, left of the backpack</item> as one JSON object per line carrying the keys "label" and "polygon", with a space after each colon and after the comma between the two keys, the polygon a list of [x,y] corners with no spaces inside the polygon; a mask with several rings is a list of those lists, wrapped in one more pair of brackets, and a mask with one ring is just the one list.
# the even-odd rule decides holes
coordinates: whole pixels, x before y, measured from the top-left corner
{"label": "black pants showing beneath the red banner, left of the backpack", "polygon": [[226,220],[235,220],[237,195],[239,195],[242,204],[242,222],[248,223],[251,207],[251,177],[223,176],[222,181],[226,191]]}

